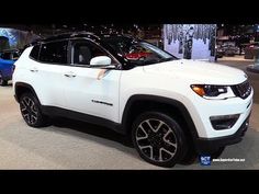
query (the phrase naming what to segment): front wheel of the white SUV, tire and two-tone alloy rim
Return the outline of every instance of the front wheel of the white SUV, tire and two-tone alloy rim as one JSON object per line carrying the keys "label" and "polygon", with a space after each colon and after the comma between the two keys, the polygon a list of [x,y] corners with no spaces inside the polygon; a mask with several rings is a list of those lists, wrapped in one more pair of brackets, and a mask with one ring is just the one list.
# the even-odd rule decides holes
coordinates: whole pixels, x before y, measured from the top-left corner
{"label": "front wheel of the white SUV, tire and two-tone alloy rim", "polygon": [[185,155],[184,133],[167,114],[145,112],[135,119],[132,127],[134,147],[145,161],[169,168]]}

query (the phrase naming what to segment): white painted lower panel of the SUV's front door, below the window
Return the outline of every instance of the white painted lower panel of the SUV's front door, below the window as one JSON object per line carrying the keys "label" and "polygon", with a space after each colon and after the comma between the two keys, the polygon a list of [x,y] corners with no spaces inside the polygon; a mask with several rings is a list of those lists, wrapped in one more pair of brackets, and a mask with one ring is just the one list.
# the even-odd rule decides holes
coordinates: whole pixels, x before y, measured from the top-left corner
{"label": "white painted lower panel of the SUV's front door, below the window", "polygon": [[101,69],[98,68],[66,67],[66,71],[76,76],[63,79],[66,109],[119,122],[121,71],[108,70],[100,80],[98,75]]}

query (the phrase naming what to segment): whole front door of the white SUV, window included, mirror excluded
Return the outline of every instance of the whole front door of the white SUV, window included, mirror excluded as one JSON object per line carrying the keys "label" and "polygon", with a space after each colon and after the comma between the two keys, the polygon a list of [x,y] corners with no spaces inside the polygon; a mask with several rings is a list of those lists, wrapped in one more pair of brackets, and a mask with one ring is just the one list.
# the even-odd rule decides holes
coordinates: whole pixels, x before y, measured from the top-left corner
{"label": "whole front door of the white SUV, window included, mirror excluded", "polygon": [[71,42],[71,65],[64,82],[66,109],[119,122],[121,70],[91,67],[95,56],[111,57],[91,41]]}

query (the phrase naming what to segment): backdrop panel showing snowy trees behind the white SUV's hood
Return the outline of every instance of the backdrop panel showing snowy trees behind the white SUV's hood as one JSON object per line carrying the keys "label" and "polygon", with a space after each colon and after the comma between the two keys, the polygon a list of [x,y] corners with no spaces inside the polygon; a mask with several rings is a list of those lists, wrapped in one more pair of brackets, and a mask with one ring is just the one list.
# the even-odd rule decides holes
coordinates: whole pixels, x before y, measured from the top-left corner
{"label": "backdrop panel showing snowy trees behind the white SUV's hood", "polygon": [[179,58],[215,60],[216,24],[165,24],[164,48]]}

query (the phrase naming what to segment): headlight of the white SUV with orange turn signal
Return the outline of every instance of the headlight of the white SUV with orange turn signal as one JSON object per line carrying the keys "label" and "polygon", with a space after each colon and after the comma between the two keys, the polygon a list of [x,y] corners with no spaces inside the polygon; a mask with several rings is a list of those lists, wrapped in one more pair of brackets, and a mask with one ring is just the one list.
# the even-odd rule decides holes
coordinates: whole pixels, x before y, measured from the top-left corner
{"label": "headlight of the white SUV with orange turn signal", "polygon": [[233,98],[230,87],[214,84],[192,84],[191,89],[200,96],[205,99],[227,99]]}

